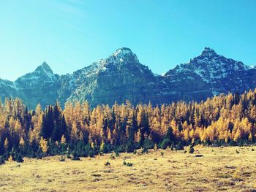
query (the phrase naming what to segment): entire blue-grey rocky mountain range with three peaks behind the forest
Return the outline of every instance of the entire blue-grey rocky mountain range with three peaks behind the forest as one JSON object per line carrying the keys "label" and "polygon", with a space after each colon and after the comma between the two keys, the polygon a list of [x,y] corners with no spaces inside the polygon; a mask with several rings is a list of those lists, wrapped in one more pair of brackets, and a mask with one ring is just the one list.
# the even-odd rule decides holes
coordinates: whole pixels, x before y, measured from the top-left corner
{"label": "entire blue-grey rocky mountain range with three peaks behind the forest", "polygon": [[127,47],[108,58],[75,71],[73,74],[53,74],[45,62],[34,72],[15,82],[0,79],[1,100],[20,97],[29,107],[43,107],[58,99],[88,100],[97,104],[114,104],[126,99],[132,104],[167,104],[171,101],[201,101],[219,93],[242,93],[256,87],[256,68],[241,61],[218,55],[206,47],[187,64],[177,65],[164,75],[157,75],[140,64]]}

